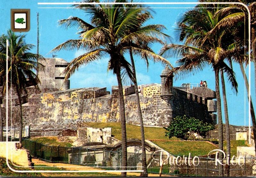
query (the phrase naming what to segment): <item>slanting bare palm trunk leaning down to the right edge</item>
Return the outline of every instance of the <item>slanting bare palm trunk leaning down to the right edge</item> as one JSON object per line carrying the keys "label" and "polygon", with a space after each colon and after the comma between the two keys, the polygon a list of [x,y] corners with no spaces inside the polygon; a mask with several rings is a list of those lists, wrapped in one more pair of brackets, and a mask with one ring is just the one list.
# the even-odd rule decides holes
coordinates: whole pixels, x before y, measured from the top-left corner
{"label": "slanting bare palm trunk leaning down to the right edge", "polygon": [[[243,77],[244,77],[245,87],[246,87],[247,94],[248,94],[249,93],[249,83],[248,83],[248,80],[247,80],[247,76],[244,72],[244,66],[243,66],[242,63],[239,63],[239,65],[240,65],[240,69],[241,69],[241,72],[242,72]],[[247,97],[247,98],[249,100],[249,97]],[[250,105],[251,105],[251,110],[250,111],[251,111],[251,117],[252,117],[253,137],[254,137],[254,142],[256,143],[256,119],[255,119],[255,113],[254,113],[253,104],[252,104],[252,97],[251,97]],[[249,134],[251,134],[251,133],[249,133]],[[256,154],[256,144],[254,146],[255,146],[255,154]]]}

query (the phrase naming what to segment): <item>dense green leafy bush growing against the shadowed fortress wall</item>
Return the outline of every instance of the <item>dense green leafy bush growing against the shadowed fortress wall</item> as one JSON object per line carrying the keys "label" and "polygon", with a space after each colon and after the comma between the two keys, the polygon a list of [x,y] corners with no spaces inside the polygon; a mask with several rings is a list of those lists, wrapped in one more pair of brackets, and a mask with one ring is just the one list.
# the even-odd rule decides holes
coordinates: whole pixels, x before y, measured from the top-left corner
{"label": "dense green leafy bush growing against the shadowed fortress wall", "polygon": [[[180,139],[195,140],[199,136],[205,138],[208,131],[213,130],[215,126],[212,123],[207,123],[193,117],[177,116],[170,123],[168,128],[165,128],[165,136],[177,137]],[[196,135],[195,135],[196,134]]]}

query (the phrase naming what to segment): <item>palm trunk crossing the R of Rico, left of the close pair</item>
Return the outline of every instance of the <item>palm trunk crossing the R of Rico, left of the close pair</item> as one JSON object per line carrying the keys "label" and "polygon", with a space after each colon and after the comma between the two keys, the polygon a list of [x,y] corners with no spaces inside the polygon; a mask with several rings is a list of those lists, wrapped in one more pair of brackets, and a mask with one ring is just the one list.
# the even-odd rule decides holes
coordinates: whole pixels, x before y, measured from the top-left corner
{"label": "palm trunk crossing the R of Rico, left of the close pair", "polygon": [[[222,115],[221,115],[221,100],[220,100],[220,80],[219,80],[219,72],[220,69],[218,67],[214,68],[215,72],[215,90],[216,90],[216,98],[217,98],[217,117],[218,117],[218,132],[219,132],[219,149],[223,150],[223,125],[222,125]],[[223,159],[223,154],[219,153],[219,160]],[[221,161],[222,163],[223,161]],[[219,164],[219,176],[223,177],[223,165]]]}

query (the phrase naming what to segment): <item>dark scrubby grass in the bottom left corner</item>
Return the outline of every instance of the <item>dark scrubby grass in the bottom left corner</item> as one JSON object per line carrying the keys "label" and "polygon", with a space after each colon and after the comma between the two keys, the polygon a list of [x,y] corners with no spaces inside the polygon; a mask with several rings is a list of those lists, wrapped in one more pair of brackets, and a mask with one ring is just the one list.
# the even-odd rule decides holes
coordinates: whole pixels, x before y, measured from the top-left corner
{"label": "dark scrubby grass in the bottom left corner", "polygon": [[[22,168],[12,165],[11,161],[8,161],[9,165],[15,170],[23,170],[23,171],[31,171],[32,169],[29,168]],[[9,169],[6,164],[6,159],[0,157],[0,176],[2,177],[39,177],[43,176],[41,173],[16,173]]]}

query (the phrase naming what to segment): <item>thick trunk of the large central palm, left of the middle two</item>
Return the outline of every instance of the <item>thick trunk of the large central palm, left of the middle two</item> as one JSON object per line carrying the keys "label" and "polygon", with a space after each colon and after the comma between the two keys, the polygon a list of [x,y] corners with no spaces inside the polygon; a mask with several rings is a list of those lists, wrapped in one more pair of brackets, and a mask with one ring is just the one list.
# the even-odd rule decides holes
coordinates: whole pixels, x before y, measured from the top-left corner
{"label": "thick trunk of the large central palm, left of the middle two", "polygon": [[[124,93],[123,93],[120,65],[118,65],[116,70],[116,78],[118,83],[119,112],[120,112],[121,133],[122,133],[122,163],[121,163],[122,168],[121,170],[126,170],[127,168],[127,143],[126,143],[126,123],[125,123],[126,121],[125,121]],[[121,176],[126,176],[126,172],[122,172]]]}

